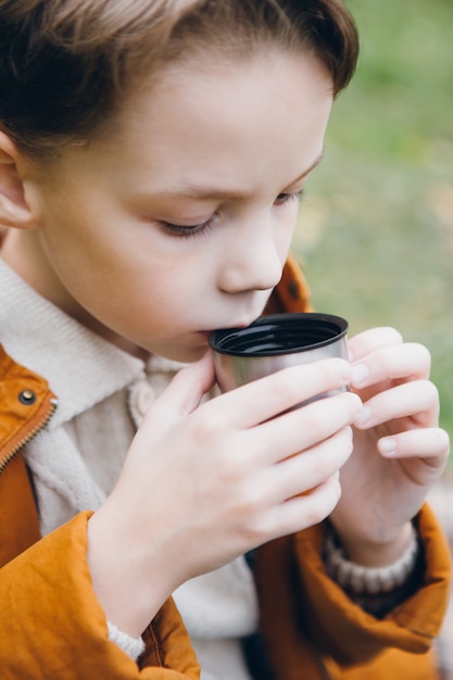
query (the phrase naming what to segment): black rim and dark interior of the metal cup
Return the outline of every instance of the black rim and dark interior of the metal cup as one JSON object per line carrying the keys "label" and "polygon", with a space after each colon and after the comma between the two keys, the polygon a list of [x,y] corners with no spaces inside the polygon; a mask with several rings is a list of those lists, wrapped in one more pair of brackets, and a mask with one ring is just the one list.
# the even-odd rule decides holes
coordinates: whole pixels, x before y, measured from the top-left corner
{"label": "black rim and dark interior of the metal cup", "polygon": [[334,314],[300,312],[262,316],[247,328],[222,328],[210,348],[229,356],[276,356],[322,348],[348,332],[348,322]]}

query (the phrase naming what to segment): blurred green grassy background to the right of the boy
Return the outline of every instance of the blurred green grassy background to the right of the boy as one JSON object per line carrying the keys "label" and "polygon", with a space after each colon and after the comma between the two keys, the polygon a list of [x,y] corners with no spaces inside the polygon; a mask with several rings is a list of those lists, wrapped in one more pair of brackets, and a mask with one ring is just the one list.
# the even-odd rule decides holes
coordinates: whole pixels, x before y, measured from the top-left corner
{"label": "blurred green grassy background to the right of the boy", "polygon": [[[432,355],[453,435],[453,1],[348,0],[362,53],[294,239],[317,311]],[[452,465],[452,464],[451,464]]]}

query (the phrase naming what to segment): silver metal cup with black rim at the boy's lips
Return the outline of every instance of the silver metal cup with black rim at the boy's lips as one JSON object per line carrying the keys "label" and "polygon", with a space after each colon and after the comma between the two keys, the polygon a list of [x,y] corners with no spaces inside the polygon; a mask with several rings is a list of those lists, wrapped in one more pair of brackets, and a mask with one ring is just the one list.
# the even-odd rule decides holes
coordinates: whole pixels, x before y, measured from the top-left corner
{"label": "silver metal cup with black rim at the boy's lips", "polygon": [[223,392],[228,392],[287,366],[330,356],[348,358],[347,332],[344,318],[312,312],[273,314],[247,328],[214,330],[209,344],[218,386]]}

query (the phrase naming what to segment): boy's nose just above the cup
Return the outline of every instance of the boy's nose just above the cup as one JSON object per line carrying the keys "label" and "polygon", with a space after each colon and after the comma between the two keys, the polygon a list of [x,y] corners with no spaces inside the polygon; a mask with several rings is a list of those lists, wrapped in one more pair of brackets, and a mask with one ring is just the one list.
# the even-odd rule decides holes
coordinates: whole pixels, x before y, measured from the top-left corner
{"label": "boy's nose just above the cup", "polygon": [[279,253],[272,225],[230,231],[222,253],[218,287],[224,292],[239,293],[270,290],[281,278],[285,257]]}

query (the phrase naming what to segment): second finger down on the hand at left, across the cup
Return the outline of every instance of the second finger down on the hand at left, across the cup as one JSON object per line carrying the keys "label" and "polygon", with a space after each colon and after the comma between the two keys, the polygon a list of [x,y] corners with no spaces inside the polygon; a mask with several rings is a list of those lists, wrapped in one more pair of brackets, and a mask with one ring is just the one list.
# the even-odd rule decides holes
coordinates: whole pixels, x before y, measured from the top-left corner
{"label": "second finger down on the hand at left, across the cup", "polygon": [[[351,425],[361,411],[362,402],[352,392],[313,402],[250,429],[248,450],[255,451],[265,463],[278,463],[332,437]],[[310,480],[309,487],[316,480]]]}

